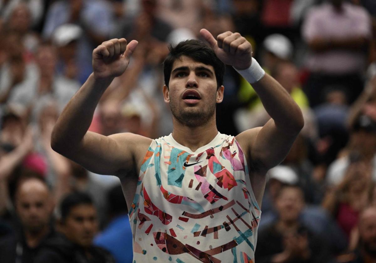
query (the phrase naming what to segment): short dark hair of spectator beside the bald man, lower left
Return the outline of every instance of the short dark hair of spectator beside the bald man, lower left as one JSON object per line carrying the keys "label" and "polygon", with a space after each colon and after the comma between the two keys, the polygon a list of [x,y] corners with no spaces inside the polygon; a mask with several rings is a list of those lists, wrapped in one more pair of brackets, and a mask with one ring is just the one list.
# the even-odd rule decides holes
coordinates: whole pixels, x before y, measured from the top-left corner
{"label": "short dark hair of spectator beside the bald man, lower left", "polygon": [[73,192],[66,195],[60,203],[60,219],[65,222],[73,207],[81,204],[93,205],[91,197],[87,193]]}

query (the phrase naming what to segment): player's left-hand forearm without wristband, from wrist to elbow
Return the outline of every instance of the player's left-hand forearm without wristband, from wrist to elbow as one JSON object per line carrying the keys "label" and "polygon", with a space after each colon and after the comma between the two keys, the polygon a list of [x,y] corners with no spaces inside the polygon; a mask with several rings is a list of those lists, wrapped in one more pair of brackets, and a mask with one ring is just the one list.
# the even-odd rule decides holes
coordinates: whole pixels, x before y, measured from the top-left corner
{"label": "player's left-hand forearm without wristband, from wrist to elbow", "polygon": [[89,76],[65,106],[53,128],[53,150],[64,155],[80,144],[91,124],[100,97],[111,81],[112,79],[97,80],[93,74]]}

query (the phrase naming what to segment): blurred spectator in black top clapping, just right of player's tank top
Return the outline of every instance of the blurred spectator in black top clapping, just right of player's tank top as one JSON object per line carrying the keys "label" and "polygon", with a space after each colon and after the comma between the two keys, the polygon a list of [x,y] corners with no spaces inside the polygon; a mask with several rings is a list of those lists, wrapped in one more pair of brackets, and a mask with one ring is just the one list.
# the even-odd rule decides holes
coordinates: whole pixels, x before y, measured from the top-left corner
{"label": "blurred spectator in black top clapping, just right of player's tank top", "polygon": [[276,201],[278,219],[259,231],[256,262],[328,262],[329,248],[321,237],[299,220],[303,191],[296,186],[280,189]]}

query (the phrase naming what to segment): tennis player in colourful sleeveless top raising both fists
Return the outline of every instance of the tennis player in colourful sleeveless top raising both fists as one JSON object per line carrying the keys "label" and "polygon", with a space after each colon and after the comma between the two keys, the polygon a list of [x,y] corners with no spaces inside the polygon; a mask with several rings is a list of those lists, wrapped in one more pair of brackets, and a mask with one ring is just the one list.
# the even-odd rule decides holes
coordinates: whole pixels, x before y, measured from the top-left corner
{"label": "tennis player in colourful sleeveless top raising both fists", "polygon": [[[156,140],[130,133],[88,132],[109,83],[126,70],[137,41],[103,42],[94,72],[68,103],[52,134],[55,151],[123,186],[136,262],[253,260],[265,173],[280,163],[303,127],[290,95],[252,59],[251,44],[225,32],[209,42],[172,48],[164,63],[164,100],[173,132]],[[271,120],[236,137],[220,134],[215,104],[223,100],[224,63],[252,83]]]}

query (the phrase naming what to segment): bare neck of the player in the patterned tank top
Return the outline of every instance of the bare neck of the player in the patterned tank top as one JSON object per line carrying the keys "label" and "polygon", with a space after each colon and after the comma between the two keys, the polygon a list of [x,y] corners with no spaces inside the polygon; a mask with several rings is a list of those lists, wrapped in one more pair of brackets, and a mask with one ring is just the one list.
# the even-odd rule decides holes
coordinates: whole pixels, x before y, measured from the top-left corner
{"label": "bare neck of the player in the patterned tank top", "polygon": [[197,127],[188,127],[173,118],[173,126],[172,136],[174,140],[190,148],[191,151],[196,151],[198,148],[208,144],[218,134],[215,118]]}

